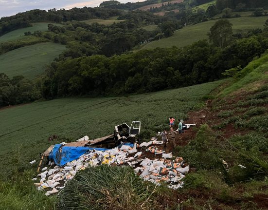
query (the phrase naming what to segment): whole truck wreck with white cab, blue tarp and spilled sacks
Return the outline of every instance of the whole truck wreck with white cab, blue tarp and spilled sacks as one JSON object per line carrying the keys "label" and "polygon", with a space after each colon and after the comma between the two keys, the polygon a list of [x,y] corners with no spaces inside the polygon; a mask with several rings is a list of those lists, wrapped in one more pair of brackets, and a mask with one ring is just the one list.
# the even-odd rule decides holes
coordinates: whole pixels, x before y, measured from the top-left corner
{"label": "whole truck wreck with white cab, blue tarp and spilled sacks", "polygon": [[[186,124],[183,125],[183,129],[195,125]],[[134,168],[135,173],[145,181],[157,185],[166,183],[172,189],[182,187],[181,179],[189,172],[189,165],[184,163],[182,157],[172,159],[170,149],[163,147],[163,142],[158,140],[160,132],[157,137],[152,137],[150,141],[140,145],[137,141],[133,142],[133,139],[131,142],[131,138],[139,134],[140,129],[140,121],[133,121],[131,126],[126,123],[115,126],[114,134],[105,137],[89,140],[85,135],[75,142],[62,142],[50,146],[42,154],[37,169],[41,172],[32,179],[38,180],[34,185],[37,190],[46,190],[46,195],[52,195],[61,191],[78,171],[108,164],[110,166],[128,165]],[[121,140],[127,142],[123,143]],[[103,146],[113,149],[99,148]],[[46,158],[50,160],[49,166],[43,168]]]}

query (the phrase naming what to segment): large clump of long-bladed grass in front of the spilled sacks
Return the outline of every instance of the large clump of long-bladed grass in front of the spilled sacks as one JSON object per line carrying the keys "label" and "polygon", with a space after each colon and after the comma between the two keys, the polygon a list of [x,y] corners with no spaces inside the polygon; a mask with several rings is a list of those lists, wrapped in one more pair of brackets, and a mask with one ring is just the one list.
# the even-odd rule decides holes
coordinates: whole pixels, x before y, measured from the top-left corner
{"label": "large clump of long-bladed grass in front of the spilled sacks", "polygon": [[154,209],[148,186],[128,167],[88,168],[79,172],[59,194],[58,210]]}

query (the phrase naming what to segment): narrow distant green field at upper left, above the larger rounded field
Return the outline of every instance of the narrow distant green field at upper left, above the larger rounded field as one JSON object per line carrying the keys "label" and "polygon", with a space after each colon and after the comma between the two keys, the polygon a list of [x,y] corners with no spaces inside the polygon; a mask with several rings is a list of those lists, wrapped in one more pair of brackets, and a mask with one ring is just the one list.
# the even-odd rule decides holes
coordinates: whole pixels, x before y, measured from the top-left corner
{"label": "narrow distant green field at upper left, above the larger rounded field", "polygon": [[[17,29],[15,31],[11,31],[7,34],[4,34],[3,36],[0,37],[0,42],[4,42],[4,41],[10,41],[10,40],[14,40],[14,39],[18,39],[18,38],[25,38],[24,36],[24,32],[35,32],[35,31],[47,31],[48,30],[48,23],[46,22],[37,22],[37,23],[31,23],[32,27],[27,27],[27,28],[20,28]],[[58,25],[61,26],[62,24],[59,23],[52,23],[54,25]]]}

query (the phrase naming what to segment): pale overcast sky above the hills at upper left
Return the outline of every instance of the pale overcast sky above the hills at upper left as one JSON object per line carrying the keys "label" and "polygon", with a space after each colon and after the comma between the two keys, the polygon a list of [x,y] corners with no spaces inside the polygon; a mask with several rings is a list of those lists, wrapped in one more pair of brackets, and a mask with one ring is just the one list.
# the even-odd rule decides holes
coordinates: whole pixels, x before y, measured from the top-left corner
{"label": "pale overcast sky above the hills at upper left", "polygon": [[[96,7],[104,0],[0,0],[0,18],[16,15],[32,9],[71,9],[73,7]],[[143,0],[119,0],[121,3]]]}

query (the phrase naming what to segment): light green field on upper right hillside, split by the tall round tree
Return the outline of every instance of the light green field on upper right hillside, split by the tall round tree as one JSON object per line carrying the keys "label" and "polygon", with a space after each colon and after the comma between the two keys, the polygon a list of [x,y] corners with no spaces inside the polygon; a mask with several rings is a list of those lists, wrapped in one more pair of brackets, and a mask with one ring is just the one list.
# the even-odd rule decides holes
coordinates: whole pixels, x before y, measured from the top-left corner
{"label": "light green field on upper right hillside, split by the tall round tree", "polygon": [[[157,47],[168,48],[172,46],[184,47],[199,39],[208,38],[207,33],[218,19],[189,25],[177,30],[173,36],[152,41],[141,46],[140,49],[154,49]],[[263,28],[267,17],[241,17],[229,19],[233,24],[233,32],[246,31],[254,28]]]}

